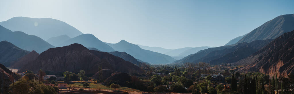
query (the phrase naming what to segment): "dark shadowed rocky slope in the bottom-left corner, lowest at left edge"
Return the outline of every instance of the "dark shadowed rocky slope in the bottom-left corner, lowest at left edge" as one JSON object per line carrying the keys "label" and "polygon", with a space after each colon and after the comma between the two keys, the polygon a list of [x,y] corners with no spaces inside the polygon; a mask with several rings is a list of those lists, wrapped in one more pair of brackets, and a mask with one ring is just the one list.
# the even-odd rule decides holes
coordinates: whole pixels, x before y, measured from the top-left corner
{"label": "dark shadowed rocky slope in the bottom-left corner, lowest at left edge", "polygon": [[9,85],[17,81],[20,77],[15,73],[12,73],[9,69],[7,69],[4,65],[0,64],[0,84],[4,83],[4,87],[2,88],[9,88]]}

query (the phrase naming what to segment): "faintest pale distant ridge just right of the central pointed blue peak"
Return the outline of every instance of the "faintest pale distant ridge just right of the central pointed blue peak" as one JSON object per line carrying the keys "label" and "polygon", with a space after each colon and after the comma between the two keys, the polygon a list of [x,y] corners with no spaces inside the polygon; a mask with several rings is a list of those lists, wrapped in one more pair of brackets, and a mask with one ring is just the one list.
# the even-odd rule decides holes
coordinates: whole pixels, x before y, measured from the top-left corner
{"label": "faintest pale distant ridge just right of the central pointed blue peak", "polygon": [[149,47],[149,46],[143,46],[143,45],[138,45],[138,46],[140,48],[142,48],[142,49],[150,50],[150,51],[153,51],[153,52],[158,52],[158,53],[161,53],[161,54],[164,54],[166,52],[169,52],[169,51],[173,50],[173,49],[165,49],[165,48],[161,48],[161,47]]}

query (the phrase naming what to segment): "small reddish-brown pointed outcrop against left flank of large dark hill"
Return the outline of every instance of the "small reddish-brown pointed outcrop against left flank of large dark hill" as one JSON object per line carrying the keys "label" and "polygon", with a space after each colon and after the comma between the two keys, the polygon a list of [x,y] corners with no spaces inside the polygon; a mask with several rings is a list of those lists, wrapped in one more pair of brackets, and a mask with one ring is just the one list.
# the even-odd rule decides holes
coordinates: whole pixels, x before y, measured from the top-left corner
{"label": "small reddish-brown pointed outcrop against left flank of large dark hill", "polygon": [[37,53],[36,51],[32,51],[29,54],[25,55],[24,57],[21,57],[19,59],[17,59],[16,61],[12,62],[12,68],[15,69],[19,69],[22,66],[28,64],[29,62],[34,61],[35,59],[37,59],[37,57],[39,56],[39,53]]}

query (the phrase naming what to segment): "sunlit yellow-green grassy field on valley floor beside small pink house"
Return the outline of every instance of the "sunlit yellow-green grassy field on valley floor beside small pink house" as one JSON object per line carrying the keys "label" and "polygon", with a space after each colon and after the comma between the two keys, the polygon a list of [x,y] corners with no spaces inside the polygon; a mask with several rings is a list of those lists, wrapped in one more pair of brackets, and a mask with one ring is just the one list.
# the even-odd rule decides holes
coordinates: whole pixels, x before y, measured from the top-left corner
{"label": "sunlit yellow-green grassy field on valley floor beside small pink house", "polygon": [[[99,88],[99,89],[104,89],[104,90],[114,90],[113,88],[109,88],[108,86],[104,86],[100,83],[98,84],[95,84],[95,83],[89,83],[90,84],[90,88]],[[80,85],[80,86],[79,86]],[[74,87],[83,87],[83,83],[74,83],[72,86]],[[135,91],[135,92],[142,92],[140,90],[137,90],[137,89],[133,89],[133,88],[127,88],[127,87],[120,87],[120,88],[116,88],[116,90],[119,90],[119,91]]]}

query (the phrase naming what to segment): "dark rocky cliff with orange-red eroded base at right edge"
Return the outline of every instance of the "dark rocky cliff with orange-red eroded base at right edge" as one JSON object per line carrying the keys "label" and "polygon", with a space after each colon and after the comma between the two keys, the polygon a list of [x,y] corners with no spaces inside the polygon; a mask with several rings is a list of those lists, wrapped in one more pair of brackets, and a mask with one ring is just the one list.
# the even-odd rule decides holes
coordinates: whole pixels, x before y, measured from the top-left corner
{"label": "dark rocky cliff with orange-red eroded base at right edge", "polygon": [[294,74],[294,30],[284,33],[246,59],[236,62],[245,65],[238,71],[258,71],[287,77]]}

